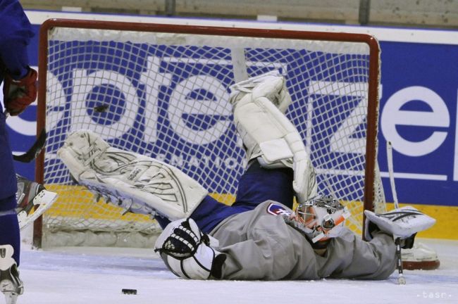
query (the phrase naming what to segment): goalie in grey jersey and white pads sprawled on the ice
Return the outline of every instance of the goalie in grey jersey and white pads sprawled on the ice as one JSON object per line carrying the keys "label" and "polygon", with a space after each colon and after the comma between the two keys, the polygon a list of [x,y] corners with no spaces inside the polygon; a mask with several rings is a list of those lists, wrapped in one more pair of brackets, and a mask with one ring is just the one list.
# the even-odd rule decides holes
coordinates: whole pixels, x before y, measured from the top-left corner
{"label": "goalie in grey jersey and white pads sprawled on the ice", "polygon": [[[435,220],[414,208],[366,211],[363,241],[343,226],[347,209],[316,193],[314,168],[284,115],[285,80],[261,75],[232,87],[248,166],[233,205],[171,165],[109,146],[97,134],[70,134],[58,156],[79,184],[164,228],[155,248],[189,279],[385,279],[395,270],[394,238],[412,246]],[[292,210],[296,196],[298,207]]]}

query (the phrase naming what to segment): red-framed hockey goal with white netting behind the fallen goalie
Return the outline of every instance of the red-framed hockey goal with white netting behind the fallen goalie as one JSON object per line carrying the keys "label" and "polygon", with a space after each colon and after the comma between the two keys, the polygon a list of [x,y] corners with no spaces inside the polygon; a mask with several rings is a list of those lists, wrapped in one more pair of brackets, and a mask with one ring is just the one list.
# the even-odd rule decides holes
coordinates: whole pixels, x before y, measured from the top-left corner
{"label": "red-framed hockey goal with white netting behind the fallen goalie", "polygon": [[229,87],[272,70],[287,80],[293,100],[287,116],[316,167],[319,191],[348,206],[347,222],[357,234],[363,209],[384,206],[376,166],[379,51],[373,37],[48,20],[39,56],[37,129],[46,127],[48,139],[37,181],[59,194],[35,227],[44,246],[152,246],[160,232],[151,218],[95,201],[72,182],[56,151],[78,129],[170,163],[230,204],[245,152]]}

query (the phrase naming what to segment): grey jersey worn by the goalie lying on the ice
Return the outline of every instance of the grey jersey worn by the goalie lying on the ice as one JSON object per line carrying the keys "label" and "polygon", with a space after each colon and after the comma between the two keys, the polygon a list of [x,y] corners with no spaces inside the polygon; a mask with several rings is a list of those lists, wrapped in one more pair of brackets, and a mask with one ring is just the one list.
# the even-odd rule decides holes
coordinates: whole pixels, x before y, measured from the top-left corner
{"label": "grey jersey worn by the goalie lying on the ice", "polygon": [[392,236],[377,234],[369,243],[345,229],[341,237],[330,239],[321,256],[304,234],[283,220],[281,215],[291,212],[276,201],[265,201],[213,229],[218,251],[227,254],[223,279],[385,279],[395,270]]}

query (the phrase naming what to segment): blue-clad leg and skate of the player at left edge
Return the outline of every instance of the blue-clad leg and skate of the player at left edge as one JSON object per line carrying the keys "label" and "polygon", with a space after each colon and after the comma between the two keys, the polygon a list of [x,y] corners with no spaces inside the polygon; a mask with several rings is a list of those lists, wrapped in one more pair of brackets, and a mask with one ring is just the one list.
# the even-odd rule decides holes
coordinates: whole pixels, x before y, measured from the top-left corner
{"label": "blue-clad leg and skate of the player at left edge", "polygon": [[20,261],[20,233],[16,215],[16,174],[6,133],[6,118],[0,107],[0,291],[7,303],[23,293],[17,267]]}

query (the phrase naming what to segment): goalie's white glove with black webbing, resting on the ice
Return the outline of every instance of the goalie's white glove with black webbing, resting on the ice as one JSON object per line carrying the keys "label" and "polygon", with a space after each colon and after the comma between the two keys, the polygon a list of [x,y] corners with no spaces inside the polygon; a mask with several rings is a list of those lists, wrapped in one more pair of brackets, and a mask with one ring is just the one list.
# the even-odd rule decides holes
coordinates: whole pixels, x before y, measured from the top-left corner
{"label": "goalie's white glove with black webbing, resting on the ice", "polygon": [[156,240],[154,251],[173,274],[183,279],[221,279],[225,254],[212,246],[218,241],[203,234],[194,220],[176,220],[167,225]]}

